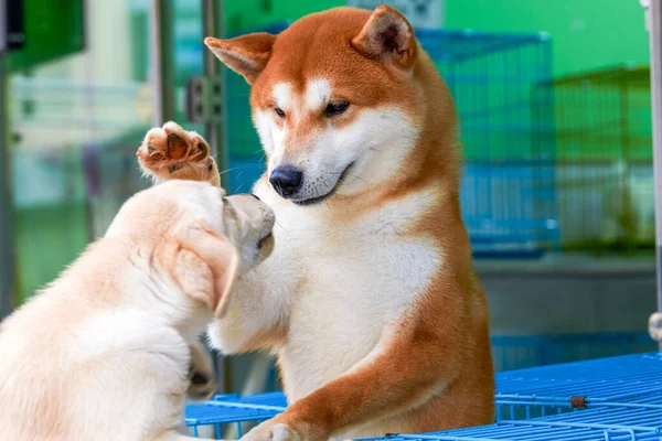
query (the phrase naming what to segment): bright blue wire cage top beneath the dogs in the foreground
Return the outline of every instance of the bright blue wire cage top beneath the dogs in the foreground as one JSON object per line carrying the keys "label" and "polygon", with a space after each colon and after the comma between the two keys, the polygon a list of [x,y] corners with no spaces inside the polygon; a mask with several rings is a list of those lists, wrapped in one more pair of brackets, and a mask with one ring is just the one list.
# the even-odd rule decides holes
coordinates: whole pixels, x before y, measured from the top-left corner
{"label": "bright blue wire cage top beneath the dogs in the foreground", "polygon": [[[281,392],[217,396],[186,407],[194,434],[202,426],[259,422],[287,407]],[[384,440],[660,440],[662,353],[568,363],[496,374],[495,423]]]}

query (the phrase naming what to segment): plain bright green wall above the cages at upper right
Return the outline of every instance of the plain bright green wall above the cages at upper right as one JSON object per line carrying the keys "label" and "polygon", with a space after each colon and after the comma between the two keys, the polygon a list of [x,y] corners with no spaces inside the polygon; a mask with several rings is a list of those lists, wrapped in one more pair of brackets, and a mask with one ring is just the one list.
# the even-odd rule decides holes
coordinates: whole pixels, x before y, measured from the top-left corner
{"label": "plain bright green wall above the cages at upper right", "polygon": [[448,29],[548,32],[555,75],[649,63],[644,14],[637,0],[446,0],[445,21]]}

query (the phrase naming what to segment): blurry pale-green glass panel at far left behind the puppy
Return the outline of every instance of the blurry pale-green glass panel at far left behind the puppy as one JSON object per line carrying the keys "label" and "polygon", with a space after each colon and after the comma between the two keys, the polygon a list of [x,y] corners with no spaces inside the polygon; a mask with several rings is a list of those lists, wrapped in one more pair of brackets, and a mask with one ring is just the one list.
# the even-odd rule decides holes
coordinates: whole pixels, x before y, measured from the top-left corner
{"label": "blurry pale-green glass panel at far left behind the puppy", "polygon": [[148,29],[146,11],[135,3],[86,2],[84,52],[29,68],[14,63],[10,115],[21,300],[103,235],[126,197],[147,184],[135,150],[151,126]]}

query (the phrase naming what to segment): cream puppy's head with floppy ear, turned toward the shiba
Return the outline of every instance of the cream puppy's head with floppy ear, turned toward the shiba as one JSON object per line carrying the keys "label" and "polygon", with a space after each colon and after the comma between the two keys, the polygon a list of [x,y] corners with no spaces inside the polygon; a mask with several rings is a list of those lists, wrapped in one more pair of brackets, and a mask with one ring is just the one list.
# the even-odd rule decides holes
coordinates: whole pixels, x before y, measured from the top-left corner
{"label": "cream puppy's head with floppy ear, turned toward the shiba", "polygon": [[237,276],[270,255],[274,223],[256,196],[226,197],[206,182],[169,181],[127,201],[106,237],[135,238],[149,248],[152,269],[221,316]]}

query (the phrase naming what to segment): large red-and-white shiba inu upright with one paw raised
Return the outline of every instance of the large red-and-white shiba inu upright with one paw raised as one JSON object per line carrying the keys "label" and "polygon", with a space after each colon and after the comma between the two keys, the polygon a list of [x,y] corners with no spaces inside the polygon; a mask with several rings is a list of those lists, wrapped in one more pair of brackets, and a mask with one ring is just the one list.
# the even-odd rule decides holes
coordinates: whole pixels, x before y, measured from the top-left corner
{"label": "large red-and-white shiba inu upright with one paw raised", "polygon": [[[273,257],[237,281],[210,329],[224,353],[278,357],[290,406],[245,438],[491,422],[488,308],[460,217],[456,112],[406,19],[339,8],[278,35],[205,44],[252,85],[268,158],[254,192],[277,219]],[[172,132],[188,136],[174,125],[153,136]],[[160,180],[216,180],[209,155],[186,149],[192,159],[168,149],[152,159],[143,146],[142,166]]]}

